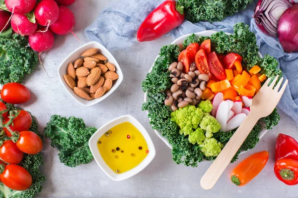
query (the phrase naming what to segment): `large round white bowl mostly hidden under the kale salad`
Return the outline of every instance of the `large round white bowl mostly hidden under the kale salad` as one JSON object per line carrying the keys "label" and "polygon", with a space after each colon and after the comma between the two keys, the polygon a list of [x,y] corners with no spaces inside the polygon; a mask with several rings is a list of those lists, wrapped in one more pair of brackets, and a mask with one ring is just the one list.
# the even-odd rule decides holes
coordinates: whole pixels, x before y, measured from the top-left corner
{"label": "large round white bowl mostly hidden under the kale salad", "polygon": [[[215,34],[217,33],[217,31],[213,31],[213,30],[207,30],[207,31],[203,31],[203,32],[197,32],[197,33],[194,33],[196,36],[200,37],[200,36],[211,36],[212,34]],[[227,35],[230,35],[230,33],[225,33]],[[187,35],[184,35],[184,36],[181,36],[179,38],[177,38],[175,41],[173,41],[171,44],[174,45],[178,45],[180,47],[180,49],[183,49],[183,42],[184,40],[190,36],[192,34],[187,34]],[[259,52],[259,56],[262,58],[262,55],[261,53]],[[159,55],[155,58],[155,60],[159,57]],[[154,60],[154,62],[155,62]],[[154,63],[153,63],[154,64]],[[152,64],[152,67],[153,67],[153,64]],[[152,67],[150,68],[149,70],[149,73],[152,72]],[[147,102],[149,99],[148,95],[147,95],[147,92],[145,93],[145,98],[144,98],[144,101]],[[149,111],[147,111],[147,115],[149,114]],[[265,124],[262,124],[262,127],[264,127]],[[262,131],[259,133],[259,139],[261,139],[266,133],[267,133],[268,130],[266,130],[265,128],[262,129]],[[172,145],[169,143],[169,141],[163,137],[161,135],[161,132],[158,131],[158,130],[154,130],[154,132],[156,133],[156,135],[169,147],[172,149]],[[246,151],[241,151],[240,154],[244,153]]]}

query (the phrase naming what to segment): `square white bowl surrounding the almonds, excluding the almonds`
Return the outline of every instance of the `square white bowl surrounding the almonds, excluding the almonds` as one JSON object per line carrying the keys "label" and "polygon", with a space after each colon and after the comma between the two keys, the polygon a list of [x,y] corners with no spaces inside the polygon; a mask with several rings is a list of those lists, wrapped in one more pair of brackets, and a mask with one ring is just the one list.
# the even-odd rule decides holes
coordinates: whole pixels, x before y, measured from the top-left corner
{"label": "square white bowl surrounding the almonds, excluding the almonds", "polygon": [[[78,97],[75,93],[74,90],[72,90],[67,83],[64,80],[64,75],[67,74],[67,66],[70,62],[74,63],[74,61],[78,58],[80,58],[81,54],[87,50],[87,49],[91,49],[91,48],[98,48],[99,52],[102,53],[104,56],[107,57],[108,61],[111,63],[114,63],[114,65],[116,66],[116,72],[119,75],[119,78],[115,81],[113,81],[113,86],[112,88],[105,93],[102,97],[100,97],[99,99],[92,99],[87,101],[86,99],[82,99],[80,97]],[[116,59],[114,58],[114,56],[110,53],[110,51],[108,49],[106,49],[104,46],[102,46],[101,44],[97,43],[97,42],[89,42],[81,47],[79,47],[78,49],[75,49],[70,55],[68,55],[64,61],[60,64],[59,68],[58,68],[58,75],[60,78],[61,83],[63,84],[64,88],[66,89],[66,91],[72,96],[72,98],[74,100],[76,100],[78,103],[80,103],[83,106],[91,106],[93,104],[96,104],[98,102],[101,102],[102,100],[108,98],[121,84],[122,80],[123,80],[123,73],[121,71],[121,68],[118,64],[118,62],[116,61]]]}

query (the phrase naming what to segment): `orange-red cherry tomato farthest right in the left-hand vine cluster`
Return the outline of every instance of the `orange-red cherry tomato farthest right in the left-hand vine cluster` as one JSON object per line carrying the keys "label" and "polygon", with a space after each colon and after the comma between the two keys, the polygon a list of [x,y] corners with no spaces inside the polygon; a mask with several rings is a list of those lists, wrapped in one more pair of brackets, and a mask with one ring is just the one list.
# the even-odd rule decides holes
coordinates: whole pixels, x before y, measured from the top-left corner
{"label": "orange-red cherry tomato farthest right in the left-hand vine cluster", "polygon": [[16,142],[17,148],[27,154],[36,154],[42,150],[40,137],[32,131],[22,131],[19,140]]}

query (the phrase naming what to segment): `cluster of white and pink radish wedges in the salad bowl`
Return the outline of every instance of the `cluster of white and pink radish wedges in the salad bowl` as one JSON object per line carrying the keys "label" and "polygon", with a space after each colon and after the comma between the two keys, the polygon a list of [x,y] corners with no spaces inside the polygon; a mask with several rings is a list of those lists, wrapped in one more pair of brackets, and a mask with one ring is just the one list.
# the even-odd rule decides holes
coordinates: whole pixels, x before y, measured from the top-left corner
{"label": "cluster of white and pink radish wedges in the salad bowl", "polygon": [[234,102],[230,99],[224,100],[224,95],[221,92],[215,95],[211,113],[221,124],[221,131],[230,131],[239,127],[248,115],[252,97],[242,96],[241,100]]}

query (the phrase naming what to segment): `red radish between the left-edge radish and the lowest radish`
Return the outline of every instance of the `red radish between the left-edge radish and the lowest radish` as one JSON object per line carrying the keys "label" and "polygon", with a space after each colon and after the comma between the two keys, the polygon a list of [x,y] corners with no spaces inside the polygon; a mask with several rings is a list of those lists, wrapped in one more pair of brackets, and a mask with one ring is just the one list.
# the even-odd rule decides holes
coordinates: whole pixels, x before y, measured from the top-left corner
{"label": "red radish between the left-edge radish and the lowest radish", "polygon": [[33,34],[38,26],[37,23],[29,21],[28,17],[23,14],[13,14],[10,23],[13,31],[21,36],[29,36]]}

